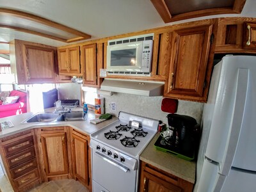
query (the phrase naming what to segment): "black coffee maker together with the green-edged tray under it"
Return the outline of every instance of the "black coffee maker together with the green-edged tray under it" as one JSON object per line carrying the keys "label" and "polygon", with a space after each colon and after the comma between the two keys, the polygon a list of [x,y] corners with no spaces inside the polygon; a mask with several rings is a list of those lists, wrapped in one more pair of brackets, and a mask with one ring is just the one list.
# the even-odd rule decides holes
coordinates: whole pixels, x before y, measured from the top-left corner
{"label": "black coffee maker together with the green-edged tray under it", "polygon": [[178,114],[168,114],[167,118],[171,134],[159,136],[154,144],[157,150],[174,154],[188,161],[195,159],[195,149],[199,138],[195,118]]}

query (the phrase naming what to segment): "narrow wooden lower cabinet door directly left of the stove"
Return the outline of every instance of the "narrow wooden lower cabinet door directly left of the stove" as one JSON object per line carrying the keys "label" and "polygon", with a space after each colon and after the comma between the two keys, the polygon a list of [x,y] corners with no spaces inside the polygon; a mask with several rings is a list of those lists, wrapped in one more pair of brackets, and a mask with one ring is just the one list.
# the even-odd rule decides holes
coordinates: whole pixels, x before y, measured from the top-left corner
{"label": "narrow wooden lower cabinet door directly left of the stove", "polygon": [[72,165],[74,178],[79,180],[88,189],[91,185],[91,164],[90,164],[90,137],[72,129]]}

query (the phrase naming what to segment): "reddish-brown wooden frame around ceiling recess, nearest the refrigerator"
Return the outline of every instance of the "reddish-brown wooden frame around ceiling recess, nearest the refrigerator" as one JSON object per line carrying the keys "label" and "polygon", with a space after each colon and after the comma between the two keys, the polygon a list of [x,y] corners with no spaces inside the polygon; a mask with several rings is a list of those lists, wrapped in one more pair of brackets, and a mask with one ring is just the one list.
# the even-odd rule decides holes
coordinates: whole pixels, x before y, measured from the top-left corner
{"label": "reddish-brown wooden frame around ceiling recess, nearest the refrigerator", "polygon": [[236,14],[241,13],[246,0],[235,0],[234,6],[230,8],[211,8],[205,10],[198,10],[195,12],[181,13],[178,15],[172,15],[168,6],[164,0],[150,0],[155,6],[157,12],[162,17],[165,23],[174,22],[177,20],[191,19],[195,17],[204,17],[209,15],[220,15],[220,14]]}

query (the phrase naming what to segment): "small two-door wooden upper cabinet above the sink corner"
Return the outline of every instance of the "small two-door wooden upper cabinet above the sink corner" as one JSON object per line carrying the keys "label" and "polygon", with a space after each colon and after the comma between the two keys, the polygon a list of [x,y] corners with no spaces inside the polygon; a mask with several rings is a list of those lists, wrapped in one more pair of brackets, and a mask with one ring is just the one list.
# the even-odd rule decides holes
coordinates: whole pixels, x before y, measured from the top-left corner
{"label": "small two-door wooden upper cabinet above the sink corner", "polygon": [[79,46],[58,49],[59,74],[81,76]]}

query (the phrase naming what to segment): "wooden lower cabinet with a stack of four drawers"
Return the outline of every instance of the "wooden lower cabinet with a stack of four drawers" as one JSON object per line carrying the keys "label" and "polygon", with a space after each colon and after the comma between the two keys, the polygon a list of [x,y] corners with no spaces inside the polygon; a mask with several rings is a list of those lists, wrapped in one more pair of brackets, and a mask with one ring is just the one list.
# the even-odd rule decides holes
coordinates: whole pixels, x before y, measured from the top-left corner
{"label": "wooden lower cabinet with a stack of four drawers", "polygon": [[29,191],[42,182],[33,129],[2,138],[0,154],[14,191]]}

